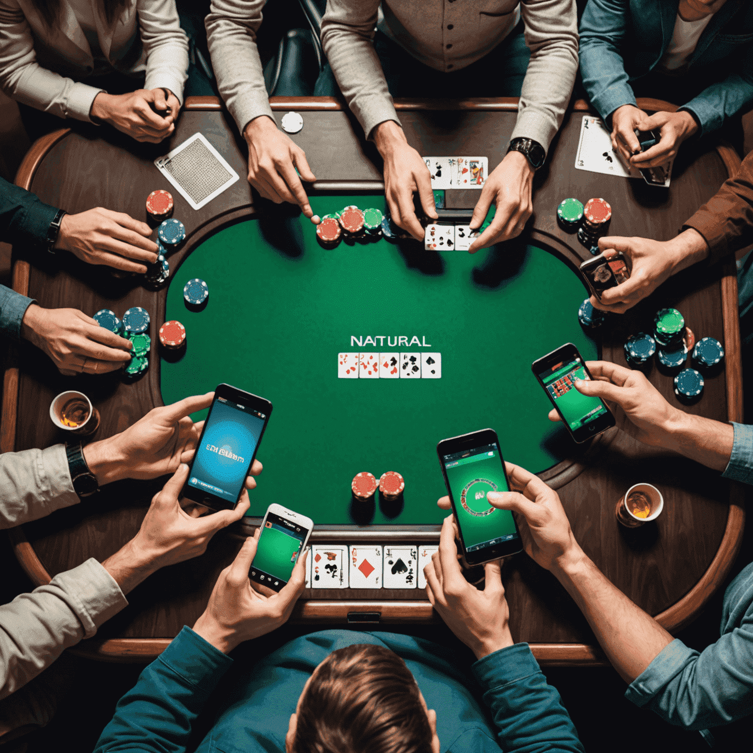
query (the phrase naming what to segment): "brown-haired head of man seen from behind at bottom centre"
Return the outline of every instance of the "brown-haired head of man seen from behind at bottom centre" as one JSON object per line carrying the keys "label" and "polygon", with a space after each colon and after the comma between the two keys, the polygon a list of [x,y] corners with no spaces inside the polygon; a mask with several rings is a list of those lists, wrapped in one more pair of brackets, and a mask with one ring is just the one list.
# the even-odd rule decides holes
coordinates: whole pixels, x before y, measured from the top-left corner
{"label": "brown-haired head of man seen from behind at bottom centre", "polygon": [[405,662],[383,646],[333,651],[300,703],[294,753],[431,753],[431,727]]}

